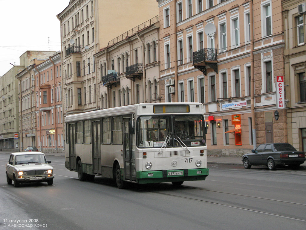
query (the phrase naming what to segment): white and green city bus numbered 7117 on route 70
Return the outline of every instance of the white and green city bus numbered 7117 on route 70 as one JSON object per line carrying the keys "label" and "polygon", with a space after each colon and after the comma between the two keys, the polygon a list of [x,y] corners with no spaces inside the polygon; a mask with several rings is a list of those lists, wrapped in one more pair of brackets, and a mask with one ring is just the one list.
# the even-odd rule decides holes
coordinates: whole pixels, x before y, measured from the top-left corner
{"label": "white and green city bus numbered 7117 on route 70", "polygon": [[65,118],[65,166],[80,181],[205,180],[206,126],[201,103],[141,103]]}

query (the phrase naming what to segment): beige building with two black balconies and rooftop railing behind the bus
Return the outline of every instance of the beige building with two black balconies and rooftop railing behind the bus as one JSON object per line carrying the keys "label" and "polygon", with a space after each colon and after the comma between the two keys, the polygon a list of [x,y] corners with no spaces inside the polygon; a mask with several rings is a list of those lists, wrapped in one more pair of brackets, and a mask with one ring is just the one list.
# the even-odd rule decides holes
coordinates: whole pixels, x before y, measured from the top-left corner
{"label": "beige building with two black balconies and rooftop railing behind the bus", "polygon": [[[95,54],[99,63],[100,108],[159,98],[159,21],[155,16],[114,38]],[[78,89],[78,102],[86,100]]]}

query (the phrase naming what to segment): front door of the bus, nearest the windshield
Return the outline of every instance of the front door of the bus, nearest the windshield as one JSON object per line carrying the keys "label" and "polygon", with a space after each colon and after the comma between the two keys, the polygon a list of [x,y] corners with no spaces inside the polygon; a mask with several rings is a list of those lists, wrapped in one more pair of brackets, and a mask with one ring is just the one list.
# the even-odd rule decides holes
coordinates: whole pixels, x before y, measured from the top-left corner
{"label": "front door of the bus, nearest the windshield", "polygon": [[136,165],[135,165],[135,134],[129,134],[129,121],[132,118],[124,119],[124,170],[125,179],[136,181]]}

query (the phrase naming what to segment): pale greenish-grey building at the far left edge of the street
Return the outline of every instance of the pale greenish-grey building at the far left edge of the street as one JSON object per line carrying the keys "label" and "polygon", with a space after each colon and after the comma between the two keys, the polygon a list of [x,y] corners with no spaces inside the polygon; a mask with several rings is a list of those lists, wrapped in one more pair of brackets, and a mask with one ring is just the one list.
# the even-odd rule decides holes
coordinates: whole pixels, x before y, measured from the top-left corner
{"label": "pale greenish-grey building at the far left edge of the street", "polygon": [[[24,66],[13,66],[0,77],[0,151],[19,150],[18,80],[17,71]],[[17,134],[15,136],[15,134]]]}

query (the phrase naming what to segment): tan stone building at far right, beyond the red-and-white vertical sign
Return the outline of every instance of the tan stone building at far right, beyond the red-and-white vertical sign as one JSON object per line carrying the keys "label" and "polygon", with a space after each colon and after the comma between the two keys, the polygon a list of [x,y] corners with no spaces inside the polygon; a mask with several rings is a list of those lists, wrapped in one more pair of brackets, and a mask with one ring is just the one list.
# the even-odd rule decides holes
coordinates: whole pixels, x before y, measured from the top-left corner
{"label": "tan stone building at far right, beyond the red-and-white vertical sign", "polygon": [[288,117],[288,143],[306,151],[306,10],[298,5],[305,1],[283,0],[285,34],[285,89]]}

